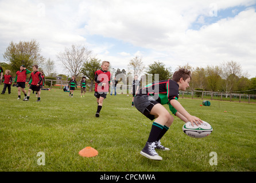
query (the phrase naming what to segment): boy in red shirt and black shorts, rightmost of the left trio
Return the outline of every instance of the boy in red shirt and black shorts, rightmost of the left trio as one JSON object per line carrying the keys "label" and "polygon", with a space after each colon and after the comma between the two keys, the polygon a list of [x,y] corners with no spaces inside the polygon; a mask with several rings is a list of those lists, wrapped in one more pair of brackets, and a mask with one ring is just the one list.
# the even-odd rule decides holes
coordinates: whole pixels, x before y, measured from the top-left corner
{"label": "boy in red shirt and black shorts, rightmost of the left trio", "polygon": [[41,97],[40,97],[40,94],[41,94],[41,87],[40,87],[40,84],[42,82],[42,75],[39,71],[37,71],[38,69],[38,65],[33,65],[33,73],[31,73],[30,75],[30,81],[29,81],[29,84],[28,86],[30,85],[29,87],[29,92],[28,92],[28,96],[24,99],[24,101],[28,101],[29,100],[29,96],[30,96],[30,92],[31,90],[37,92],[37,102],[40,102],[41,100]]}

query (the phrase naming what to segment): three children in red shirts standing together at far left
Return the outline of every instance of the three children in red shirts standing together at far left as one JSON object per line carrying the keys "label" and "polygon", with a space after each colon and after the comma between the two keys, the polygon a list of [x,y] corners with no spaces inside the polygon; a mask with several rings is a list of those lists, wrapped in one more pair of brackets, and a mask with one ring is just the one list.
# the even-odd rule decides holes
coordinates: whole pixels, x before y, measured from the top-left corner
{"label": "three children in red shirts standing together at far left", "polygon": [[[27,74],[30,74],[29,83],[28,83],[28,94],[25,91],[25,85],[26,85],[26,76]],[[38,65],[33,65],[33,72],[26,69],[25,65],[20,66],[20,70],[16,72],[16,77],[14,80],[14,85],[18,87],[18,100],[21,100],[21,91],[24,93],[24,100],[23,101],[29,101],[30,93],[33,90],[33,92],[36,92],[37,94],[37,102],[41,101],[41,88],[44,86],[44,71],[38,71]],[[6,88],[8,88],[8,93],[11,93],[11,83],[12,78],[10,75],[10,70],[5,71],[5,75],[3,75],[3,90],[1,94],[5,94]]]}

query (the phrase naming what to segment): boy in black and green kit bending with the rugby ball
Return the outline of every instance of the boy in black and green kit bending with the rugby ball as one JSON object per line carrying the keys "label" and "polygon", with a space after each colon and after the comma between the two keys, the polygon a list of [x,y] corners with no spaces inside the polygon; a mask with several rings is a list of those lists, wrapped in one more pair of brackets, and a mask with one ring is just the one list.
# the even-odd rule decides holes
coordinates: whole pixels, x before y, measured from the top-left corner
{"label": "boy in black and green kit bending with the rugby ball", "polygon": [[[170,110],[176,110],[181,120],[188,120],[193,125],[201,124],[201,120],[191,116],[178,102],[179,90],[185,91],[189,87],[191,71],[179,69],[174,72],[172,79],[155,81],[143,87],[134,97],[134,106],[150,120],[154,120],[145,147],[141,154],[151,160],[162,160],[155,150],[170,150],[161,145],[161,138],[169,129],[174,120],[173,116],[165,109],[164,104],[169,104]],[[173,109],[174,108],[174,109]],[[174,112],[173,112],[174,113]]]}

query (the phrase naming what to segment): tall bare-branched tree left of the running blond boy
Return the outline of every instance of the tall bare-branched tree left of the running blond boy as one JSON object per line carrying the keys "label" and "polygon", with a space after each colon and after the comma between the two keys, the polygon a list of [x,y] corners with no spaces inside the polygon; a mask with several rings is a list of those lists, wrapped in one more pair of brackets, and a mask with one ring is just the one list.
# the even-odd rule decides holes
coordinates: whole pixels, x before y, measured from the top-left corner
{"label": "tall bare-branched tree left of the running blond boy", "polygon": [[63,63],[71,75],[77,77],[81,72],[84,62],[90,58],[91,54],[92,51],[84,46],[72,45],[70,49],[65,48],[63,53],[59,53],[57,58]]}

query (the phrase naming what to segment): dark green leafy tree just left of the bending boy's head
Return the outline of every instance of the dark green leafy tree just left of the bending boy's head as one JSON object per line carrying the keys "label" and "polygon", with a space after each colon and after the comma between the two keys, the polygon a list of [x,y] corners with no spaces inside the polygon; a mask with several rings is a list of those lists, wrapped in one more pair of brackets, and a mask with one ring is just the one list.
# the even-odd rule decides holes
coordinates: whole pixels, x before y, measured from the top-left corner
{"label": "dark green leafy tree just left of the bending boy's head", "polygon": [[159,74],[159,81],[169,79],[172,77],[172,68],[166,67],[162,62],[154,62],[149,65],[146,70],[147,74],[152,74],[152,81],[155,81],[154,74]]}

